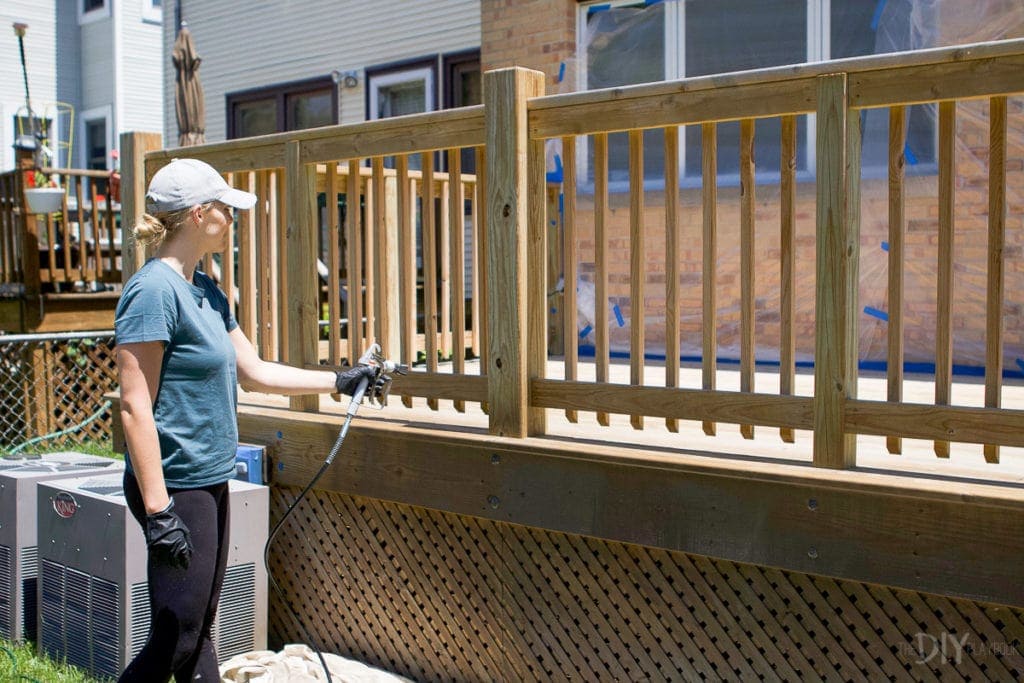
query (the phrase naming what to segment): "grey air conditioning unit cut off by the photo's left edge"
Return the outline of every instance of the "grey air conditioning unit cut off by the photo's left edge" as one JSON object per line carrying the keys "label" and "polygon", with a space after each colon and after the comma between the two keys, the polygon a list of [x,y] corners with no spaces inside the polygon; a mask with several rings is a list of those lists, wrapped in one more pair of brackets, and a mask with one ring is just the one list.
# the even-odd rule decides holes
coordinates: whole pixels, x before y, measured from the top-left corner
{"label": "grey air conditioning unit cut off by the photo's left edge", "polygon": [[36,484],[123,469],[82,453],[0,458],[0,638],[36,639]]}

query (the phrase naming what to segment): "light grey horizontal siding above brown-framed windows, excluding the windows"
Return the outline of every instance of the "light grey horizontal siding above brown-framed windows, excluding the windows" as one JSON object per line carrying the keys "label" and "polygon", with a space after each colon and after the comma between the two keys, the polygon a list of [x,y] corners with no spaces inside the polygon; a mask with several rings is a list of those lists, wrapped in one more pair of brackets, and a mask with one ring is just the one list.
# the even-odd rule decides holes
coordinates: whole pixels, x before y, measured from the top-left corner
{"label": "light grey horizontal siding above brown-framed windows, excluding the windows", "polygon": [[[367,67],[480,46],[478,0],[313,2],[301,12],[292,4],[261,3],[248,6],[245,16],[234,3],[182,0],[181,18],[203,57],[208,141],[226,137],[227,93],[355,71],[358,86],[339,94],[341,123],[354,123],[366,116]],[[169,56],[176,27],[171,24],[164,27],[164,137],[169,144],[177,139]]]}

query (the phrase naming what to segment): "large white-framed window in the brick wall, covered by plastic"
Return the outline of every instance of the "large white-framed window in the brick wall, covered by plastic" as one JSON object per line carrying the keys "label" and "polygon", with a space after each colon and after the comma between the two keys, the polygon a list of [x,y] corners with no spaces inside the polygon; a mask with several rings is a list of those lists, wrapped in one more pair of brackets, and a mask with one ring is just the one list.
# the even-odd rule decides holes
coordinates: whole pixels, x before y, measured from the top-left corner
{"label": "large white-framed window in the brick wall, covered by plastic", "polygon": [[[911,24],[909,0],[612,0],[581,4],[580,86],[588,89],[706,76],[928,47],[931,37]],[[813,119],[811,119],[813,121]],[[907,161],[934,163],[935,116],[928,105],[908,112]],[[888,113],[865,112],[863,164],[885,167]],[[759,173],[777,175],[779,121],[755,125]],[[798,120],[798,170],[813,164],[813,126]],[[684,176],[700,174],[700,128],[681,135]],[[738,173],[739,124],[717,127],[719,174]],[[644,175],[663,177],[660,131],[644,133]],[[625,133],[608,136],[609,180],[629,178]],[[592,158],[592,148],[588,151]],[[592,165],[588,163],[588,168]],[[592,172],[589,171],[592,176]]]}

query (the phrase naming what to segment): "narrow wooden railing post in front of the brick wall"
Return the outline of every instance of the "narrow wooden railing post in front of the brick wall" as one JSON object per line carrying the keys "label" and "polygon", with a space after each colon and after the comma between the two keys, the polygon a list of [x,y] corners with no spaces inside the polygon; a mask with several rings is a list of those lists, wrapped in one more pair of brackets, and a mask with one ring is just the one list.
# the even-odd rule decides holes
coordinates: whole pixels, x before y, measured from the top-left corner
{"label": "narrow wooden railing post in front of the brick wall", "polygon": [[855,434],[844,421],[857,392],[859,131],[846,74],[819,76],[814,465],[834,469],[856,464]]}

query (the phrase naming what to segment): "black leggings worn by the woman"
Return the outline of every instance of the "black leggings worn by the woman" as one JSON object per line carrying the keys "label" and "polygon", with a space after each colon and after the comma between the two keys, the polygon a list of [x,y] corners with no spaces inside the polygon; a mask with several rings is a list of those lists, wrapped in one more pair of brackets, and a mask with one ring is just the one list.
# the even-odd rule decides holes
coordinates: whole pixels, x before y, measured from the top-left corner
{"label": "black leggings worn by the woman", "polygon": [[[142,524],[142,495],[128,472],[124,487],[128,508]],[[173,675],[178,683],[219,681],[211,629],[227,565],[227,483],[167,493],[191,535],[191,562],[179,569],[150,558],[150,638],[118,680],[164,683]]]}

